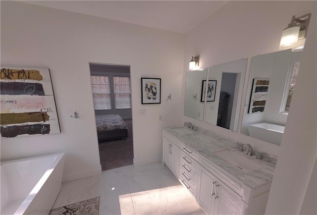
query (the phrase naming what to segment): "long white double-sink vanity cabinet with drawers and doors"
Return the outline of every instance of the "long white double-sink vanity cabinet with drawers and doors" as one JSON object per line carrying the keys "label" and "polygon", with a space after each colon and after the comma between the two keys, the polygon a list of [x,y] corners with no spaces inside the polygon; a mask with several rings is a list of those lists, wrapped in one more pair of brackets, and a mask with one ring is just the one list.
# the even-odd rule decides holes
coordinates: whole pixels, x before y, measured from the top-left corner
{"label": "long white double-sink vanity cabinet with drawers and doors", "polygon": [[[212,152],[208,154],[206,149],[196,151],[197,146],[193,143],[183,143],[176,137],[163,130],[163,164],[170,168],[208,215],[264,214],[271,182],[261,177],[272,175],[273,169],[259,176],[256,171],[252,172],[243,181],[224,170],[221,163],[215,164],[213,161],[217,159],[212,157]],[[250,181],[255,184],[254,188],[247,185]]]}

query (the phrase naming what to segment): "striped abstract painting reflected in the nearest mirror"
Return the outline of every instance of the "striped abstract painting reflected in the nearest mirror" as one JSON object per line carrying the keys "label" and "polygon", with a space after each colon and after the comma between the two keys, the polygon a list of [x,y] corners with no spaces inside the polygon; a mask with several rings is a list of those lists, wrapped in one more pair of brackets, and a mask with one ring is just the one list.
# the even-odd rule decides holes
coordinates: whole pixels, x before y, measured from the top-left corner
{"label": "striped abstract painting reflected in the nearest mirror", "polygon": [[248,113],[263,112],[268,95],[268,79],[253,79]]}

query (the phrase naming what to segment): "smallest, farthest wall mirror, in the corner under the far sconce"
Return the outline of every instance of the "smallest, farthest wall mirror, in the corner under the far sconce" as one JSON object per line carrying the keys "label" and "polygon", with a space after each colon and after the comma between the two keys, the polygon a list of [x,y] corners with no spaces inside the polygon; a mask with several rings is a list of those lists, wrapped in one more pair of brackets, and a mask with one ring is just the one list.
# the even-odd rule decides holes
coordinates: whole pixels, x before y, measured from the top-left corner
{"label": "smallest, farthest wall mirror, in the corner under the far sconce", "polygon": [[207,80],[208,68],[186,72],[184,115],[203,121],[204,102],[202,83]]}

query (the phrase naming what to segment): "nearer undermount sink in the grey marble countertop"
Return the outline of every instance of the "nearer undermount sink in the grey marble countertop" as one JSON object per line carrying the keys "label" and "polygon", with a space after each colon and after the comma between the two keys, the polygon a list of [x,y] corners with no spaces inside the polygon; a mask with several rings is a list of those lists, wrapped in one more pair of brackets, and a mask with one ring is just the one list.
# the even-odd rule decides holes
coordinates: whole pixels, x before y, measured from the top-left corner
{"label": "nearer undermount sink in the grey marble countertop", "polygon": [[241,155],[230,149],[221,150],[219,152],[215,152],[214,154],[244,171],[252,171],[263,167],[261,163],[250,159],[247,155]]}

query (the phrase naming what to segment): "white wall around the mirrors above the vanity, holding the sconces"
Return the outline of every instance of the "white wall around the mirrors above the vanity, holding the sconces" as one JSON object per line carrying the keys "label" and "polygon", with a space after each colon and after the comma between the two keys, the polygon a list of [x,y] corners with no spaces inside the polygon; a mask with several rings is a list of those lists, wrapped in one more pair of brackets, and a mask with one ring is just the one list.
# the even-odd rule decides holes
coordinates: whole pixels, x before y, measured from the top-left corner
{"label": "white wall around the mirrors above the vanity, holding the sconces", "polygon": [[[293,15],[300,16],[312,12],[313,5],[313,1],[231,1],[227,3],[187,33],[184,72],[188,68],[187,61],[192,55],[200,55],[200,68],[248,57],[246,85],[249,79],[251,57],[279,51],[282,29],[291,21]],[[246,87],[242,98],[246,98]],[[243,100],[238,132],[199,122],[186,116],[183,116],[183,121],[191,121],[196,126],[278,155],[279,146],[240,133],[244,103]]]}

